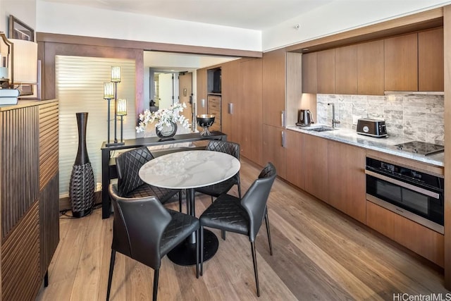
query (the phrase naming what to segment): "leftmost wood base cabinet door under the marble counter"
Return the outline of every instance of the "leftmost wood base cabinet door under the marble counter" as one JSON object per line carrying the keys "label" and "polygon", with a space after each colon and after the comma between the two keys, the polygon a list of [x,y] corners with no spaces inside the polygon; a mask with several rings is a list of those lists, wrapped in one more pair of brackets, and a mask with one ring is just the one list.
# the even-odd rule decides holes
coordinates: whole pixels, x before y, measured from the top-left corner
{"label": "leftmost wood base cabinet door under the marble counter", "polygon": [[285,130],[285,179],[304,190],[304,134]]}

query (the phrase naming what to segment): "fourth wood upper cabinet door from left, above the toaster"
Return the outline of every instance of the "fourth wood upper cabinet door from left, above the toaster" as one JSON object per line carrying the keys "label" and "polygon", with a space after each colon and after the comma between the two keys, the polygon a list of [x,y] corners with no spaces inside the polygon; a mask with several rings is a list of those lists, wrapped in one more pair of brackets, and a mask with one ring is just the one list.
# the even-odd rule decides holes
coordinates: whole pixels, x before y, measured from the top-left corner
{"label": "fourth wood upper cabinet door from left, above the toaster", "polygon": [[383,95],[383,39],[357,45],[357,94]]}

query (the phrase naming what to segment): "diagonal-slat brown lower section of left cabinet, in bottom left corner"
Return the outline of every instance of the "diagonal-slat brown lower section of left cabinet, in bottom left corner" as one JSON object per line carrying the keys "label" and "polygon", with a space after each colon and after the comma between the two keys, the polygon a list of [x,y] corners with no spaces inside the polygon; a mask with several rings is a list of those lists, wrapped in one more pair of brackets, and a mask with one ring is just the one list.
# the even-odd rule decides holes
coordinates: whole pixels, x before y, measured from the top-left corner
{"label": "diagonal-slat brown lower section of left cabinet, in bottom left corner", "polygon": [[1,300],[35,300],[41,286],[38,203],[2,242]]}

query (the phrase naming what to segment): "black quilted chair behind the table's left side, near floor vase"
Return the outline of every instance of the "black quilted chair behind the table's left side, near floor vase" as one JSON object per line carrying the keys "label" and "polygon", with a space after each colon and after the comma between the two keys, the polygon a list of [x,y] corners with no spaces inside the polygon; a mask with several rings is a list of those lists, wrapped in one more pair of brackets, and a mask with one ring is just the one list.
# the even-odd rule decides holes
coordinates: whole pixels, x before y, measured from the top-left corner
{"label": "black quilted chair behind the table's left side, near floor vase", "polygon": [[178,194],[179,211],[182,211],[182,190],[159,188],[141,180],[141,166],[154,159],[147,147],[123,152],[116,157],[118,171],[118,191],[122,197],[147,197],[154,195],[162,204]]}

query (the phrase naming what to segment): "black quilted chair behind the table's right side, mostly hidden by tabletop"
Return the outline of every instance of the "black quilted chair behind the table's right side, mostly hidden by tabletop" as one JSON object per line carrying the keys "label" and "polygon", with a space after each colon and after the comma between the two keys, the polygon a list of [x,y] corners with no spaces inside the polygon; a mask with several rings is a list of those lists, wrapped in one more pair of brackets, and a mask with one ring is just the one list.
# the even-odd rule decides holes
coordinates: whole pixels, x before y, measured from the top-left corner
{"label": "black quilted chair behind the table's right side, mostly hidden by tabletop", "polygon": [[[214,152],[223,152],[235,156],[236,159],[240,160],[240,145],[235,142],[228,142],[222,140],[210,140],[209,144],[206,145],[206,150]],[[197,192],[201,192],[204,195],[211,196],[211,202],[213,202],[213,197],[218,197],[223,193],[228,192],[233,185],[238,187],[238,196],[241,197],[241,184],[240,184],[240,172],[238,171],[235,176],[224,180],[221,183],[216,183],[214,185],[204,186],[201,188],[196,188]]]}

